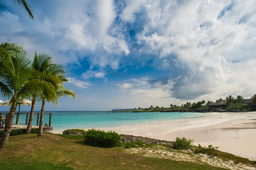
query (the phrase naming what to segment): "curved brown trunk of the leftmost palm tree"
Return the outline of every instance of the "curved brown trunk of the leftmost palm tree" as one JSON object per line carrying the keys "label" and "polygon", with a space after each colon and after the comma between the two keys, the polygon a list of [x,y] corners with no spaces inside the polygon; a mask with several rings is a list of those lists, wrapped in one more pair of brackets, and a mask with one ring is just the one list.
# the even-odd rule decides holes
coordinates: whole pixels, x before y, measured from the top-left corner
{"label": "curved brown trunk of the leftmost palm tree", "polygon": [[14,112],[16,111],[16,94],[13,96],[12,99],[13,99],[13,103],[12,103],[8,118],[6,116],[6,126],[4,128],[3,135],[0,139],[0,148],[6,147],[6,144],[9,140],[9,135],[11,133],[12,123],[13,123],[13,118],[14,118]]}

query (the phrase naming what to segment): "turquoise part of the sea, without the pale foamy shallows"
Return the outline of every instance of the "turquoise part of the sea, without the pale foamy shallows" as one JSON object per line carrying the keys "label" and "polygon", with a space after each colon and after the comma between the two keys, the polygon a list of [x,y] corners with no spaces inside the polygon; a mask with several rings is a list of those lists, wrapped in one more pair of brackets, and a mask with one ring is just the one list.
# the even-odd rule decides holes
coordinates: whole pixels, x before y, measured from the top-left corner
{"label": "turquoise part of the sea, without the pale foamy shallows", "polygon": [[[54,130],[69,128],[92,127],[119,127],[153,121],[167,121],[177,119],[194,119],[203,117],[201,113],[191,112],[77,112],[58,111],[52,112],[52,127]],[[37,115],[34,116],[33,125],[36,125]],[[15,123],[16,118],[14,119]],[[20,124],[25,124],[26,115],[20,115]],[[49,122],[49,114],[44,114],[44,124]],[[49,124],[49,123],[48,123]]]}

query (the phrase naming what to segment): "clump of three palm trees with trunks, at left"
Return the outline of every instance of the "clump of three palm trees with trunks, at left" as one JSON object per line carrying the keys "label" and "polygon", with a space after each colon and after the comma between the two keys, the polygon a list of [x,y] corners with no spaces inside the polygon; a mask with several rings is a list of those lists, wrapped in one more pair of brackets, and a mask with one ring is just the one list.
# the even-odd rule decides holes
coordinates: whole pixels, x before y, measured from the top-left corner
{"label": "clump of three palm trees with trunks, at left", "polygon": [[17,103],[32,98],[31,114],[26,133],[29,133],[36,100],[42,102],[38,136],[43,135],[44,105],[46,101],[58,104],[58,98],[76,94],[64,88],[66,72],[61,64],[53,63],[48,54],[35,53],[32,63],[22,46],[15,43],[0,44],[0,95],[11,99],[10,112],[0,139],[0,148],[6,146],[12,128]]}

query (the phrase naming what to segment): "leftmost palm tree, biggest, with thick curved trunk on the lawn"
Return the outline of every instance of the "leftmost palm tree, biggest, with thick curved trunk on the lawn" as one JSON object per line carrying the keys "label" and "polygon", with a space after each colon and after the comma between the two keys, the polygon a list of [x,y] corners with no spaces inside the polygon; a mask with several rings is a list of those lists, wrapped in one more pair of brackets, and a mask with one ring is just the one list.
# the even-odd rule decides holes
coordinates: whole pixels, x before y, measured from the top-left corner
{"label": "leftmost palm tree, biggest, with thick curved trunk on the lawn", "polygon": [[[39,79],[28,80],[28,75],[31,72],[30,66],[30,57],[22,46],[8,42],[0,44],[0,94],[4,98],[11,99],[10,103],[12,104],[0,139],[0,148],[4,148],[8,142],[17,101],[28,98],[29,89],[34,89],[34,92],[42,94],[41,86],[45,89],[50,87],[50,84]],[[49,89],[48,92],[52,91]]]}

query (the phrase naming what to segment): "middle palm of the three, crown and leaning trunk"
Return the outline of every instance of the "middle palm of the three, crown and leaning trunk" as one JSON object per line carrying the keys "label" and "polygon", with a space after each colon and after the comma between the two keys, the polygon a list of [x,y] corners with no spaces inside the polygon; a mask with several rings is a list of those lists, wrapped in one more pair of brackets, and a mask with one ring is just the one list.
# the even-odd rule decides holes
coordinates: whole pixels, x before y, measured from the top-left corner
{"label": "middle palm of the three, crown and leaning trunk", "polygon": [[[40,78],[41,80],[49,81],[49,79],[55,78],[54,75],[56,74],[59,75],[59,74],[66,73],[64,69],[61,67],[58,67],[58,69],[50,69],[52,68],[52,66],[55,66],[55,65],[56,64],[53,64],[51,55],[47,53],[37,54],[37,52],[35,52],[34,61],[32,63],[30,80]],[[32,104],[31,104],[31,111],[29,114],[29,122],[26,128],[26,133],[30,133],[31,131],[36,98],[37,97],[40,98],[40,96],[37,96],[37,94],[33,92],[33,89],[31,89],[31,93],[32,93]]]}

